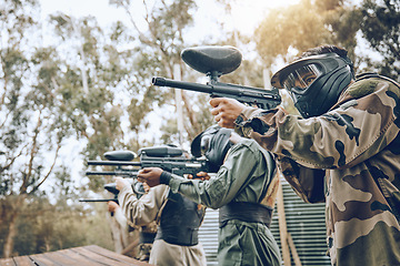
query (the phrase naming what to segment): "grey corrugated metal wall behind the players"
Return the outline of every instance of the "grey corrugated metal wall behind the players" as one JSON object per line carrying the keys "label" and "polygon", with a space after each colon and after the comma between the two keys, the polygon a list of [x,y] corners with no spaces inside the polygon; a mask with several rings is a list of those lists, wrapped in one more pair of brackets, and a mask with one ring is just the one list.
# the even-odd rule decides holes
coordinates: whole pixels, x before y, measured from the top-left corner
{"label": "grey corrugated metal wall behind the players", "polygon": [[[329,266],[330,259],[326,255],[324,204],[303,203],[284,180],[282,190],[288,233],[293,238],[301,265]],[[273,213],[271,232],[280,246],[277,211]],[[199,238],[206,250],[207,265],[218,265],[218,211],[207,209]]]}

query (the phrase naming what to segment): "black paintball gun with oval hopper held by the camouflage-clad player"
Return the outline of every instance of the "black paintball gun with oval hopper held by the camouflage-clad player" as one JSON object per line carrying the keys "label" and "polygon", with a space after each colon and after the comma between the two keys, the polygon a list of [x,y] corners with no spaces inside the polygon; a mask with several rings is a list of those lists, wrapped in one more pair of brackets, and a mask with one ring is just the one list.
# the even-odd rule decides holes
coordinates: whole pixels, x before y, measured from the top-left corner
{"label": "black paintball gun with oval hopper held by the camouflage-clad player", "polygon": [[241,63],[242,54],[233,47],[188,48],[182,51],[181,58],[189,66],[209,76],[209,82],[207,84],[199,84],[164,78],[152,78],[152,84],[204,92],[209,93],[211,98],[232,98],[244,104],[257,105],[263,110],[276,108],[281,103],[281,96],[277,88],[266,90],[218,81],[218,78],[234,71]]}

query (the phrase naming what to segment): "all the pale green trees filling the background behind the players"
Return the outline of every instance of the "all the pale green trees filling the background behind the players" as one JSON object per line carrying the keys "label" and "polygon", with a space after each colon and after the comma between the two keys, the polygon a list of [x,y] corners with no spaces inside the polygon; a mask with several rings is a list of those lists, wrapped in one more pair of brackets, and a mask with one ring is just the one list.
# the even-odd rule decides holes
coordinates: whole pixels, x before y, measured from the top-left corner
{"label": "all the pale green trees filling the background behind the players", "polygon": [[[179,64],[182,80],[203,79],[180,59],[196,1],[142,1],[147,7],[142,17],[134,16],[130,0],[110,2],[127,12],[130,24],[116,21],[101,28],[92,17],[54,13],[47,21],[52,32],[44,33],[53,39],[46,45],[39,34],[38,1],[6,0],[0,8],[1,249],[12,238],[18,255],[88,244],[112,249],[104,204],[76,204],[88,190],[103,191],[109,180],[93,177],[84,187],[76,187],[71,176],[77,166],[60,160],[60,151],[71,140],[82,143],[84,160],[102,158],[111,150],[179,142],[173,90],[152,86],[151,78],[174,79],[173,68]],[[219,2],[229,12],[232,2]],[[246,51],[254,41],[259,52],[221,82],[263,86],[263,65],[279,57],[289,61],[323,43],[346,47],[361,63],[366,60],[354,57],[360,29],[384,57],[370,66],[398,76],[399,1],[364,0],[356,8],[343,0],[301,0],[271,11],[253,40],[240,32],[221,34],[217,44]],[[184,142],[214,123],[208,101],[207,94],[183,93]],[[154,110],[162,110],[159,121],[151,120]],[[160,140],[149,131],[158,122]],[[47,180],[53,186],[44,193]],[[17,228],[14,236],[10,228]]]}

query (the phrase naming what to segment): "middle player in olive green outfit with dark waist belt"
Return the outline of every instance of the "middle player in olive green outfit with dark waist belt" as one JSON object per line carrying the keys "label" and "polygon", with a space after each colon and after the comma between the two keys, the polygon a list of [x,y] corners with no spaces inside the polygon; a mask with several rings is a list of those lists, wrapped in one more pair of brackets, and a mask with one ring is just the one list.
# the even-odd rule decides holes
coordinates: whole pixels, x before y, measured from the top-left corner
{"label": "middle player in olive green outfit with dark waist belt", "polygon": [[[150,186],[167,184],[174,193],[219,208],[219,265],[281,265],[279,247],[268,228],[279,184],[271,153],[256,141],[241,139],[218,125],[199,134],[191,152],[194,156],[204,155],[210,173],[218,172],[217,175],[188,180],[148,167],[139,171],[138,178]],[[207,173],[199,175],[206,177]]]}

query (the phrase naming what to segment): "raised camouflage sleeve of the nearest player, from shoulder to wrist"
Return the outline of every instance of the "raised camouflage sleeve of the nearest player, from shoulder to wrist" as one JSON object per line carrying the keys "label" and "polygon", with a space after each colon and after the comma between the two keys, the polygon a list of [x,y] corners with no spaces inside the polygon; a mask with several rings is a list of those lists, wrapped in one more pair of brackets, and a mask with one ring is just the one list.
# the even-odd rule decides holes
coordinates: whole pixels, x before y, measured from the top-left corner
{"label": "raised camouflage sleeve of the nearest player, from shoulder to wrist", "polygon": [[302,119],[282,109],[253,111],[250,119],[238,117],[237,127],[264,149],[306,167],[351,167],[398,135],[399,94],[399,88],[389,81],[362,80],[321,116]]}

